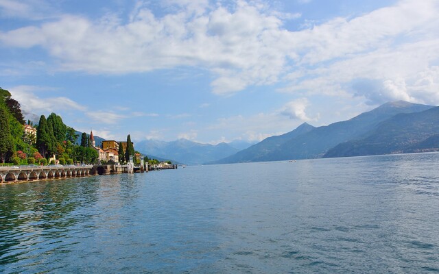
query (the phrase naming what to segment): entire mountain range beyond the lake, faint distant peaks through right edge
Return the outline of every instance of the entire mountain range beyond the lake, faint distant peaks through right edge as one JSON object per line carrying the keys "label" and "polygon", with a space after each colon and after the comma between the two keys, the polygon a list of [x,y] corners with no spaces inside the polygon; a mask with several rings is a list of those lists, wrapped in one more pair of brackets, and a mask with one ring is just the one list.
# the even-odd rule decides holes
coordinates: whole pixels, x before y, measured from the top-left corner
{"label": "entire mountain range beyond the lake, faint distant peaks through right edge", "polygon": [[[80,143],[81,132],[76,134],[77,142]],[[103,140],[95,136],[97,146]],[[183,164],[228,164],[439,151],[439,107],[395,101],[353,119],[327,126],[313,127],[302,123],[292,132],[271,136],[257,144],[244,140],[218,145],[186,139],[171,142],[141,140],[135,142],[134,149],[150,158]]]}

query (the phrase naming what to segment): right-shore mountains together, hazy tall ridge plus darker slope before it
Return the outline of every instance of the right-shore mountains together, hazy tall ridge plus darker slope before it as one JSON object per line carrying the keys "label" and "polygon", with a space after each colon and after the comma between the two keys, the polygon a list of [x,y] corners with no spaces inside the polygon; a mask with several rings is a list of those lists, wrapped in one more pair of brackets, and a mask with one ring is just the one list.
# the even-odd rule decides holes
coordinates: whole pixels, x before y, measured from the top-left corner
{"label": "right-shore mountains together, hazy tall ridge plus darker slope before it", "polygon": [[[430,144],[436,140],[425,140],[429,137],[433,138],[432,136],[435,132],[439,134],[437,129],[439,123],[434,120],[436,112],[434,112],[433,108],[434,106],[432,105],[396,101],[385,103],[370,112],[359,114],[348,121],[322,127],[312,127],[304,123],[292,132],[281,136],[272,136],[227,158],[213,161],[211,164],[401,152],[401,145],[394,145],[394,142],[403,142],[405,145],[414,145],[415,142],[420,142],[419,145],[426,145],[424,142]],[[431,112],[425,112],[426,110],[431,110]],[[425,112],[425,114],[421,114],[422,112]],[[436,117],[439,117],[439,115]],[[424,119],[429,120],[424,121]],[[399,128],[404,132],[410,127],[416,128],[418,132],[423,132],[423,134],[416,138],[416,134],[404,136],[395,132]],[[373,136],[375,138],[387,136],[381,144],[381,149],[366,149],[366,147],[372,145],[372,140],[377,140],[373,139]],[[400,138],[405,139],[399,140]],[[338,145],[340,147],[337,147]],[[360,146],[363,146],[362,151],[364,152],[354,152],[355,149],[352,147]],[[344,149],[346,152],[340,152],[340,149]],[[411,147],[410,149],[410,151],[419,150],[416,147]],[[409,151],[408,147],[407,151]]]}

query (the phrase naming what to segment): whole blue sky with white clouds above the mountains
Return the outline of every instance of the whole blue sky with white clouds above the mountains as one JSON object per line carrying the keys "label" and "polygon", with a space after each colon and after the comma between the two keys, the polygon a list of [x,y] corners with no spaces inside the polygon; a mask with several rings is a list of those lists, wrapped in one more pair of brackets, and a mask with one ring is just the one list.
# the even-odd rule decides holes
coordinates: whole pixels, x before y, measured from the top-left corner
{"label": "whole blue sky with white clouds above the mountains", "polygon": [[0,86],[107,139],[262,140],[439,104],[439,1],[0,0]]}

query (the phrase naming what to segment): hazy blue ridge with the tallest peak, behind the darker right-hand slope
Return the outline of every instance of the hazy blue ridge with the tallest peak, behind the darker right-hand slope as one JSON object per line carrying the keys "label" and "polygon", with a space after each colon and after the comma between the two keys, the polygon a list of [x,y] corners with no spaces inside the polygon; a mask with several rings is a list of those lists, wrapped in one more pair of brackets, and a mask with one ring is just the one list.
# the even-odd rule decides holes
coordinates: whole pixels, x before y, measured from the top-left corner
{"label": "hazy blue ridge with the tallest peak, behind the darker right-hand slope", "polygon": [[[353,119],[315,127],[295,136],[291,135],[289,137],[292,138],[286,141],[284,138],[279,138],[280,136],[276,136],[277,138],[275,136],[267,138],[249,149],[239,151],[236,155],[216,161],[215,163],[322,158],[330,149],[339,144],[363,138],[368,132],[377,129],[380,123],[392,118],[392,116],[423,112],[431,108],[434,108],[434,106],[405,101],[385,103],[374,110],[359,114]],[[381,130],[385,130],[385,128]],[[283,136],[288,135],[283,134]],[[263,144],[270,144],[271,148],[276,147],[276,149],[264,151],[265,146]]]}

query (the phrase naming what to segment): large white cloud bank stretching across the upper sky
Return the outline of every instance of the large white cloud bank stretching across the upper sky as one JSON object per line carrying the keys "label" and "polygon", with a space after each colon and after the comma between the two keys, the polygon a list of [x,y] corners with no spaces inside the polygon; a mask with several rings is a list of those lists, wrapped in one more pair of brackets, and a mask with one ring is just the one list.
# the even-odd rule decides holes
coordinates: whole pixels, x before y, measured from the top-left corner
{"label": "large white cloud bank stretching across the upper sky", "polygon": [[[3,10],[23,14],[30,9],[25,3],[0,0]],[[284,91],[348,98],[358,94],[349,85],[370,79],[379,82],[383,94],[377,97],[372,90],[361,95],[370,103],[379,98],[439,103],[434,92],[439,62],[436,0],[403,0],[296,31],[285,29],[284,23],[300,14],[273,10],[269,1],[233,3],[137,1],[128,23],[115,14],[96,20],[67,14],[39,26],[0,32],[0,41],[9,47],[42,47],[67,71],[111,74],[200,67],[213,74],[217,95],[289,81]],[[154,14],[151,5],[166,7],[167,14]],[[422,84],[416,84],[416,77]]]}

